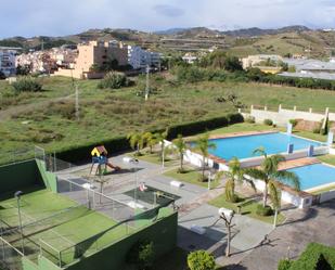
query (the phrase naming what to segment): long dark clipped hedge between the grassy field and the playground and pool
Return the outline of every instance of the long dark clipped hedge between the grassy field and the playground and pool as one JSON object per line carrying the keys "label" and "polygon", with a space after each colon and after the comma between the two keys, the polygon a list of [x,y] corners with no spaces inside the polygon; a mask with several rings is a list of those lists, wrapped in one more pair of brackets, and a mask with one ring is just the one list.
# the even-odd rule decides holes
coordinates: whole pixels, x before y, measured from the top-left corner
{"label": "long dark clipped hedge between the grassy field and the playground and pool", "polygon": [[[232,124],[243,123],[243,116],[241,114],[228,114],[221,117],[209,118],[206,120],[191,121],[181,125],[169,127],[168,139],[172,140],[182,136],[193,136],[206,130],[211,130],[220,127],[227,127]],[[157,132],[162,130],[152,130]],[[105,145],[111,153],[118,153],[130,150],[129,141],[126,136],[115,137],[108,140],[103,140],[94,143],[88,143],[85,145],[74,145],[69,149],[61,150],[56,152],[56,157],[69,163],[80,163],[88,160],[91,155],[91,151],[96,145]]]}

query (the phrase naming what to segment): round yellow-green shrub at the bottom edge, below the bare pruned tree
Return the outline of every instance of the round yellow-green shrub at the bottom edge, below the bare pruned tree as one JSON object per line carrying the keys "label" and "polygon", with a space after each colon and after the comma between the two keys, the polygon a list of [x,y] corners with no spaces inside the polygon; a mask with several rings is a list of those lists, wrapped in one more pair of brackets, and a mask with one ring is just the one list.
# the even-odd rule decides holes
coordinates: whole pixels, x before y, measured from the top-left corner
{"label": "round yellow-green shrub at the bottom edge, below the bare pruned tree", "polygon": [[191,270],[214,270],[215,258],[205,250],[196,250],[188,256],[188,266]]}

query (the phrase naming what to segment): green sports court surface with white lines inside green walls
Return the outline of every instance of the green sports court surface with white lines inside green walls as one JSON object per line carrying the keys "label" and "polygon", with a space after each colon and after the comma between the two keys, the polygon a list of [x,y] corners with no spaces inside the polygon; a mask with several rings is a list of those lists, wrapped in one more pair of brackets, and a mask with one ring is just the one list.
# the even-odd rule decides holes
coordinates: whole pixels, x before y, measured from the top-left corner
{"label": "green sports court surface with white lines inside green walls", "polygon": [[[61,266],[89,256],[133,231],[47,190],[24,194],[21,216],[25,255],[36,260],[42,247],[43,256]],[[16,198],[0,202],[0,227],[7,232],[3,237],[22,250],[18,224]]]}

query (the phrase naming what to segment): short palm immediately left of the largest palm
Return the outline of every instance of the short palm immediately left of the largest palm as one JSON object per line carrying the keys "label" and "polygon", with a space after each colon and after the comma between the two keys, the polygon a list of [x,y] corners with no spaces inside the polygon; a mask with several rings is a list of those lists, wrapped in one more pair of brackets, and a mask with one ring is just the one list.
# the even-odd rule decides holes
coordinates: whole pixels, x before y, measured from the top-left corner
{"label": "short palm immediately left of the largest palm", "polygon": [[234,157],[229,162],[229,170],[228,171],[219,171],[217,173],[217,179],[221,178],[222,176],[227,177],[227,182],[226,182],[226,198],[229,202],[234,203],[235,202],[235,185],[236,181],[239,183],[242,183],[243,181],[247,182],[250,184],[250,187],[256,191],[256,187],[254,184],[253,180],[246,179],[244,177],[245,169],[241,168],[241,163],[239,158]]}

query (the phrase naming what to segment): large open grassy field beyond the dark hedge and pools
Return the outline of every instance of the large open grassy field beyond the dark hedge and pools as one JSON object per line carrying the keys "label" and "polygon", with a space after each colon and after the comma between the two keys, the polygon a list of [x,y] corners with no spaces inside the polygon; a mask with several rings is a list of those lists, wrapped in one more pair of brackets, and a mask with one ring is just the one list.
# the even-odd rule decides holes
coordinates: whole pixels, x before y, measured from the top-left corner
{"label": "large open grassy field beyond the dark hedge and pools", "polygon": [[[80,120],[75,117],[70,78],[41,79],[44,91],[14,94],[7,81],[0,82],[0,164],[34,156],[34,145],[57,152],[69,146],[94,144],[133,131],[164,129],[171,125],[208,119],[236,112],[218,98],[231,93],[247,107],[252,104],[275,108],[296,105],[299,110],[335,111],[335,92],[242,82],[176,83],[152,76],[156,88],[147,102],[137,95],[140,87],[119,90],[98,89],[99,80],[78,80]],[[142,83],[140,83],[142,85]],[[61,97],[67,99],[57,100]],[[268,129],[235,126],[227,132]],[[271,128],[270,128],[271,129]],[[217,131],[220,132],[220,131]],[[14,153],[15,152],[15,153]],[[88,153],[89,155],[89,153]]]}

